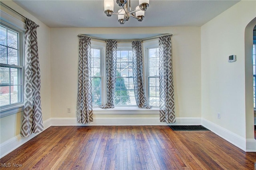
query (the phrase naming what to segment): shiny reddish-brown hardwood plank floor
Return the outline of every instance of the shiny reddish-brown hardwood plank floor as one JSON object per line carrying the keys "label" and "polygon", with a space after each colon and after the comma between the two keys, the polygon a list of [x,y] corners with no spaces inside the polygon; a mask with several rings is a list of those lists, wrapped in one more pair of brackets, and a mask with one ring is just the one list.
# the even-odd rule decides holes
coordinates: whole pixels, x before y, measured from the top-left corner
{"label": "shiny reddish-brown hardwood plank floor", "polygon": [[0,162],[1,170],[254,170],[256,153],[210,131],[52,126]]}

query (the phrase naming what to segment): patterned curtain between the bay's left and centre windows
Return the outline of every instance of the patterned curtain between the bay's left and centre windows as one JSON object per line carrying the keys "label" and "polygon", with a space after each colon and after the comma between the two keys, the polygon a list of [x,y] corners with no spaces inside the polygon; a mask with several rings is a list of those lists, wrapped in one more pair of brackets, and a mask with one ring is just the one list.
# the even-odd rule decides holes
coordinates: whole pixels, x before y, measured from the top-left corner
{"label": "patterned curtain between the bay's left and centre windows", "polygon": [[107,71],[107,103],[100,106],[102,109],[114,108],[116,91],[116,51],[117,41],[108,40],[106,44],[106,71]]}

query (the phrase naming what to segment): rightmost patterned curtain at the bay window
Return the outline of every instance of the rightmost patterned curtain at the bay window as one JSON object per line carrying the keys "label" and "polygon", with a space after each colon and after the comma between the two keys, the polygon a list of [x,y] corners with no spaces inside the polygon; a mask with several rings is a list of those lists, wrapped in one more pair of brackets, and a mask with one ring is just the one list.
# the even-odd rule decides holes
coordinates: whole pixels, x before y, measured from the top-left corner
{"label": "rightmost patterned curtain at the bay window", "polygon": [[160,122],[174,123],[171,35],[159,37]]}

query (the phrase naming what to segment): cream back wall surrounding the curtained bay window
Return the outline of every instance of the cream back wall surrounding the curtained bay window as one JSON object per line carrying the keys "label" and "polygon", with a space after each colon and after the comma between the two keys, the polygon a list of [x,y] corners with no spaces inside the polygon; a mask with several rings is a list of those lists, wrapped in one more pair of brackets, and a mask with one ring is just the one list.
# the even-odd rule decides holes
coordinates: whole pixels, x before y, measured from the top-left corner
{"label": "cream back wall surrounding the curtained bay window", "polygon": [[[172,33],[176,117],[201,117],[200,27],[50,28],[52,118],[76,117],[78,34]],[[71,113],[67,113],[71,108]],[[118,117],[118,115],[115,115]],[[144,115],[147,116],[147,115]],[[94,115],[94,118],[99,115]],[[135,117],[130,115],[129,117]],[[159,121],[159,120],[157,120]]]}

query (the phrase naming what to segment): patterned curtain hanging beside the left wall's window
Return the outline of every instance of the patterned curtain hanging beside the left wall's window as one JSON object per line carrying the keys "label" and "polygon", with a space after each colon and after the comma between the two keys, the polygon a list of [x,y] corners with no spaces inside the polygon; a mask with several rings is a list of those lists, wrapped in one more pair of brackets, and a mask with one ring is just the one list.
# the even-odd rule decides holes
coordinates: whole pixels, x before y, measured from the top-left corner
{"label": "patterned curtain hanging beside the left wall's window", "polygon": [[40,66],[35,22],[26,19],[24,114],[20,135],[30,136],[44,130],[40,96]]}

